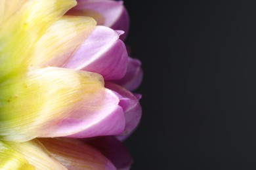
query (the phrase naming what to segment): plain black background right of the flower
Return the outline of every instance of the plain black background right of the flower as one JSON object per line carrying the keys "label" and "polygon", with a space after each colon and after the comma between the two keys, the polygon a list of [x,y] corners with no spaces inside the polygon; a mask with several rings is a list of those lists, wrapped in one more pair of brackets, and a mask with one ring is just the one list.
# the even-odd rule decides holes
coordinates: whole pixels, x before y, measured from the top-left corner
{"label": "plain black background right of the flower", "polygon": [[124,4],[144,70],[131,169],[256,169],[256,1]]}

